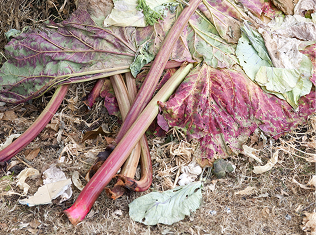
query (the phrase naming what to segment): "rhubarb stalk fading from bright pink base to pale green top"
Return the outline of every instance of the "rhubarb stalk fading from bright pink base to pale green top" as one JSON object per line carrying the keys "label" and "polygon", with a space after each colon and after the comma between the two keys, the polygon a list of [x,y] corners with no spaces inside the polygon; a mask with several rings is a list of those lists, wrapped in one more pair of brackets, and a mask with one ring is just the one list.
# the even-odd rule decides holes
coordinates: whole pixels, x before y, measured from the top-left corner
{"label": "rhubarb stalk fading from bright pink base to pale green top", "polygon": [[131,125],[131,128],[126,131],[124,137],[118,143],[116,148],[114,148],[104,164],[81,191],[76,202],[64,211],[73,225],[79,223],[88,214],[104,187],[110,182],[112,177],[123,165],[132,149],[135,147],[137,142],[139,142],[147,128],[155,119],[159,112],[157,102],[159,100],[162,102],[167,101],[170,95],[189,73],[191,68],[193,68],[193,64],[191,63],[185,67],[180,67],[165,83],[165,85],[161,87],[158,93],[141,112],[136,121]]}

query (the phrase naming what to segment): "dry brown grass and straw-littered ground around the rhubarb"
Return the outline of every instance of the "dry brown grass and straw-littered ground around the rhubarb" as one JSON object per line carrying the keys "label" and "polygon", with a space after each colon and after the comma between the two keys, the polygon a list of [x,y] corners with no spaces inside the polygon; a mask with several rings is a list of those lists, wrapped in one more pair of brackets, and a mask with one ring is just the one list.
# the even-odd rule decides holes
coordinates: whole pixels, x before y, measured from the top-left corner
{"label": "dry brown grass and straw-littered ground around the rhubarb", "polygon": [[[41,21],[47,17],[67,17],[71,12],[68,9],[73,9],[73,3],[65,1],[64,8],[67,10],[61,11],[59,15],[54,4],[59,9],[64,1],[52,1],[54,4],[50,2],[0,1],[2,10],[6,9],[0,17],[0,51],[3,51],[6,43],[3,32],[9,28],[32,26],[32,19]],[[58,128],[44,129],[12,159],[20,161],[11,169],[14,170],[14,176],[27,166],[43,172],[47,166],[57,162],[63,150],[65,161],[58,166],[66,176],[71,177],[74,171],[78,171],[81,176],[85,175],[94,161],[95,153],[105,147],[106,141],[104,137],[98,137],[80,143],[83,133],[101,124],[105,124],[111,133],[116,133],[119,129],[117,119],[107,114],[101,99],[91,111],[82,103],[82,97],[92,86],[92,82],[71,86],[52,121]],[[43,110],[51,95],[52,93],[47,93],[23,105],[0,106],[0,143],[12,133],[25,131]],[[174,141],[167,145],[164,144],[166,138],[149,141],[153,183],[144,193],[170,189],[174,185],[179,166],[189,162],[197,154],[190,150],[190,144],[186,146],[189,149],[186,153],[173,154],[180,148],[179,141],[183,141],[181,135],[178,136],[174,134]],[[63,213],[80,192],[74,186],[73,196],[66,202],[54,200],[52,204],[28,207],[18,203],[23,197],[19,195],[22,190],[16,187],[15,182],[2,179],[0,234],[305,234],[301,225],[305,213],[315,212],[315,188],[303,189],[293,182],[293,178],[301,184],[307,184],[315,174],[315,115],[310,117],[307,124],[299,126],[277,141],[268,138],[264,142],[254,135],[249,137],[248,144],[259,149],[258,155],[264,163],[279,149],[276,166],[257,175],[252,173],[253,166],[257,164],[248,157],[240,154],[230,158],[230,162],[236,166],[235,172],[223,179],[216,179],[214,176],[208,179],[204,184],[203,205],[190,217],[171,226],[145,226],[129,218],[128,203],[143,193],[133,193],[115,201],[107,199],[103,193],[87,218],[74,227]],[[36,148],[40,148],[40,154],[33,160],[26,160],[27,150]],[[6,172],[2,172],[1,177],[5,174]],[[83,177],[81,180],[85,183]],[[29,194],[32,195],[41,180],[27,179],[27,183],[31,186]],[[5,191],[8,185],[10,189]],[[254,187],[249,195],[235,194],[247,186]]]}

